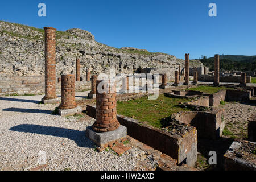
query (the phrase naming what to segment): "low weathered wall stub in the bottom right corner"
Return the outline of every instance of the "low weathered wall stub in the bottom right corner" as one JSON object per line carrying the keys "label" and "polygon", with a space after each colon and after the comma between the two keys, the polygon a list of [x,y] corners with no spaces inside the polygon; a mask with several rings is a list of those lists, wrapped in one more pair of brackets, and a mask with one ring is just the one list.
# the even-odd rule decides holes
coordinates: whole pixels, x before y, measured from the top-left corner
{"label": "low weathered wall stub in the bottom right corner", "polygon": [[[250,148],[255,147],[255,142],[236,139],[224,155],[225,171],[256,171],[255,157],[250,151]],[[245,153],[254,157],[254,159],[243,158],[243,155],[246,155]]]}

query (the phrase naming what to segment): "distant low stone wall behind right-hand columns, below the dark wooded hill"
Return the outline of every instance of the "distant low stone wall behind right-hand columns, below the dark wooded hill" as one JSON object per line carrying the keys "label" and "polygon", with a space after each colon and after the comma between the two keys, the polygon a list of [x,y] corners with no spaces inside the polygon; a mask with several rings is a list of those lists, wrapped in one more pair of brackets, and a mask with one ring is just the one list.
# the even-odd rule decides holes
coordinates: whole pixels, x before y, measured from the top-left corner
{"label": "distant low stone wall behind right-hand columns, below the dark wooded hill", "polygon": [[[220,76],[220,82],[226,83],[240,83],[240,76]],[[212,75],[199,75],[198,81],[214,82],[214,76]],[[246,76],[246,82],[251,82],[251,76]]]}

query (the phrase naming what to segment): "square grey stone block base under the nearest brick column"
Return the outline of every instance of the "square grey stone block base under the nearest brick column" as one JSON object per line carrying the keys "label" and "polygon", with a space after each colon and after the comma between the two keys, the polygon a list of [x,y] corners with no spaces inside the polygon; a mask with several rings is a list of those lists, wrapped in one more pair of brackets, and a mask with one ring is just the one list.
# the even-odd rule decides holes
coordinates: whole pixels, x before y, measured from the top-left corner
{"label": "square grey stone block base under the nearest brick column", "polygon": [[104,133],[97,133],[93,131],[92,126],[86,127],[86,136],[92,140],[98,147],[105,148],[108,147],[110,143],[126,137],[127,128],[120,125],[118,129],[114,131],[108,131]]}

